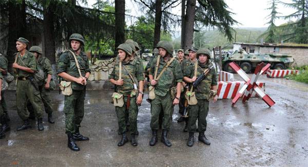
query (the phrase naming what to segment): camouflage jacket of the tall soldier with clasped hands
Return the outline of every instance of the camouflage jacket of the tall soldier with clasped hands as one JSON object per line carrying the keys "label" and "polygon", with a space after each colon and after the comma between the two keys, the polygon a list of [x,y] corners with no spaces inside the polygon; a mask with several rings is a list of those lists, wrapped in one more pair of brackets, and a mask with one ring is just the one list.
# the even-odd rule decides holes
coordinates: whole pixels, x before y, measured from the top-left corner
{"label": "camouflage jacket of the tall soldier with clasped hands", "polygon": [[[71,49],[71,51],[73,51]],[[76,55],[76,54],[75,54]],[[76,55],[76,59],[80,66],[81,75],[84,77],[87,72],[91,72],[89,68],[89,61],[84,52],[80,52],[79,55]],[[56,73],[66,72],[70,76],[79,78],[78,68],[73,54],[70,51],[65,51],[60,55],[59,62],[57,64]],[[84,90],[85,85],[81,85],[75,82],[72,82],[72,89],[74,90]]]}

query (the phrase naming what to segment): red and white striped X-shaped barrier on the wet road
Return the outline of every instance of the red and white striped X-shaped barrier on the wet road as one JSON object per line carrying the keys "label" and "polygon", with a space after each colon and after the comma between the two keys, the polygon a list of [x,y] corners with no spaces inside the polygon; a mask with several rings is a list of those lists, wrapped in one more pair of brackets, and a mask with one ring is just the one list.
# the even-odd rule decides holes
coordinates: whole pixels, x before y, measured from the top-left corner
{"label": "red and white striped X-shaped barrier on the wet road", "polygon": [[[232,106],[240,99],[240,97],[243,97],[243,102],[248,100],[251,95],[253,90],[256,91],[256,93],[262,98],[262,100],[269,106],[273,106],[275,104],[274,100],[271,99],[268,95],[265,94],[265,92],[256,84],[256,81],[258,80],[259,76],[262,75],[263,73],[267,72],[269,69],[270,64],[265,65],[264,63],[260,63],[257,65],[255,72],[252,76],[252,79],[249,78],[249,76],[246,74],[246,72],[241,69],[235,62],[232,62],[229,64],[229,66],[234,69],[239,76],[245,81],[245,84],[243,87],[237,92],[236,96],[232,100]],[[264,66],[264,67],[263,67]],[[263,67],[263,68],[262,68]],[[245,94],[245,92],[247,92]]]}

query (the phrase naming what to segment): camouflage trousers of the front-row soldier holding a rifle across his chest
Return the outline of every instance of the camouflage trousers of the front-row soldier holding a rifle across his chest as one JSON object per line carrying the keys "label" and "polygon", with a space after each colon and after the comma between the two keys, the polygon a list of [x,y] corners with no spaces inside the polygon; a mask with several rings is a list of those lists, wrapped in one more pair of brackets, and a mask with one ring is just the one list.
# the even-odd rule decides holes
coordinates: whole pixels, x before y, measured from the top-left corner
{"label": "camouflage trousers of the front-row soldier holding a rifle across his chest", "polygon": [[188,106],[188,132],[196,132],[196,121],[198,119],[198,132],[206,131],[206,116],[208,113],[208,101],[198,99],[196,105]]}

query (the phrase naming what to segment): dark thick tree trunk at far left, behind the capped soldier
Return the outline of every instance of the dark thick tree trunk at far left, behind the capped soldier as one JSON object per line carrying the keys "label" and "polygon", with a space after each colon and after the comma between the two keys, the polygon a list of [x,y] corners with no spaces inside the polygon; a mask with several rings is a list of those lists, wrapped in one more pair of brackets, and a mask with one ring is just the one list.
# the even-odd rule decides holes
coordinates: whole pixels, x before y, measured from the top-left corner
{"label": "dark thick tree trunk at far left, behind the capped soldier", "polygon": [[[24,37],[27,38],[26,28],[26,2],[8,1],[9,6],[9,38],[8,38],[8,70],[12,71],[12,64],[14,63],[13,54],[16,53],[15,40]],[[28,39],[29,40],[29,39]],[[31,43],[31,41],[30,41]],[[29,49],[29,48],[28,48]]]}

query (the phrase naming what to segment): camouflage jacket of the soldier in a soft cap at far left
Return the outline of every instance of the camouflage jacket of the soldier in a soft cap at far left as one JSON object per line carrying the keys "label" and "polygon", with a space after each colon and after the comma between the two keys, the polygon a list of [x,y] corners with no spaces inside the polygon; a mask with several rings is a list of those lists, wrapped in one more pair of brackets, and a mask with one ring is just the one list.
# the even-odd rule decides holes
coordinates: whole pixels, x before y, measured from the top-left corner
{"label": "camouflage jacket of the soldier in a soft cap at far left", "polygon": [[[17,64],[20,66],[28,67],[32,69],[33,71],[36,71],[36,60],[34,55],[26,50],[25,55],[21,57],[21,54],[19,52],[14,54],[14,58],[18,56],[17,58]],[[21,70],[21,69],[16,69],[17,73],[14,73],[16,77],[30,77],[33,76],[33,73]]]}

